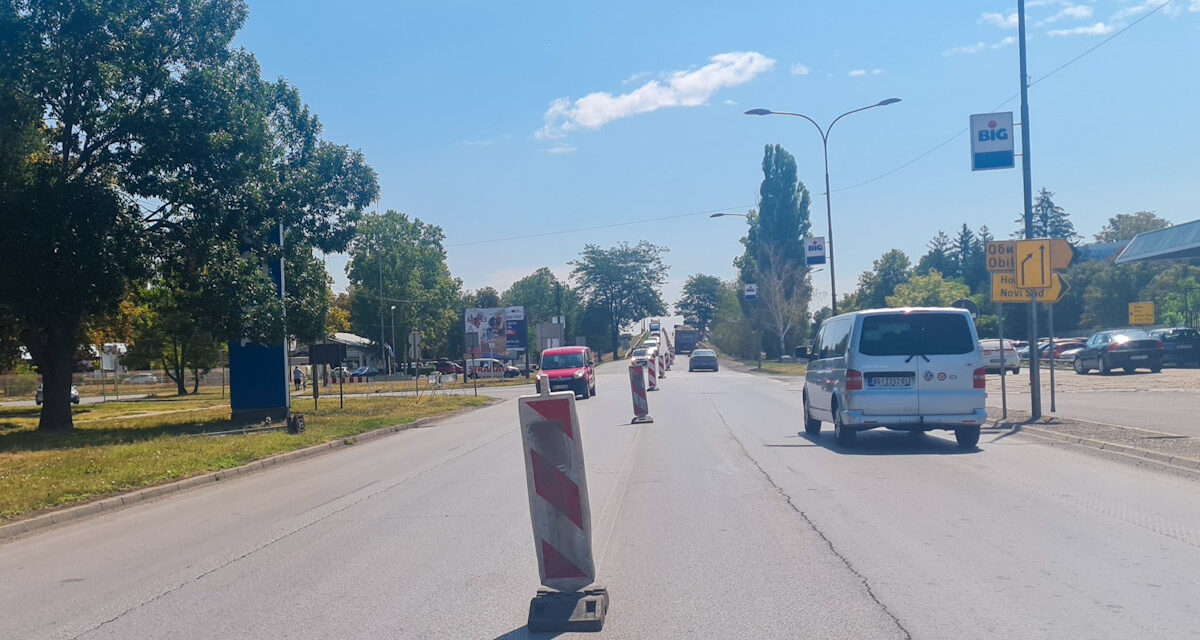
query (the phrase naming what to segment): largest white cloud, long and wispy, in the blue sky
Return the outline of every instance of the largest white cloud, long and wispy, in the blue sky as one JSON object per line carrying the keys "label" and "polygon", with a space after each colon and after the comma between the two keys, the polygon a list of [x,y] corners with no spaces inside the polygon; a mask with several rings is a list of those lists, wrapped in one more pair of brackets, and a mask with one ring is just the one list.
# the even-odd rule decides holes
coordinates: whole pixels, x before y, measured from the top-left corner
{"label": "largest white cloud, long and wispy, in the blue sky", "polygon": [[546,124],[534,136],[560,138],[571,130],[598,130],[613,120],[664,107],[697,107],[716,91],[748,83],[774,64],[757,52],[721,53],[700,68],[671,73],[666,84],[650,80],[628,94],[596,91],[575,102],[560,97],[550,103],[544,115]]}

